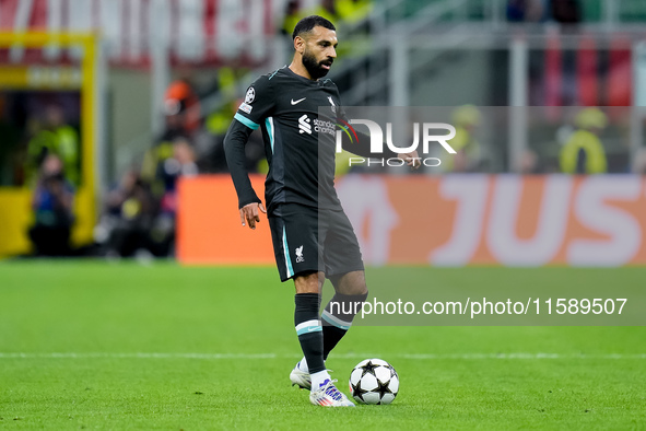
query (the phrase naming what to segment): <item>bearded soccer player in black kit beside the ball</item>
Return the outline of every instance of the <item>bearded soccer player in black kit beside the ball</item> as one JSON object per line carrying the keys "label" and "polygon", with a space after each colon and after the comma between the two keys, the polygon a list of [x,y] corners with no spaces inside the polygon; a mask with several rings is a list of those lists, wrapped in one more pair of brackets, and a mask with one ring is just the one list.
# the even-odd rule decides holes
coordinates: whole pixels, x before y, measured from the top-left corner
{"label": "bearded soccer player in black kit beside the ball", "polygon": [[[280,278],[294,280],[294,325],[304,358],[290,374],[292,384],[310,389],[315,405],[354,406],[337,389],[325,366],[368,292],[359,242],[333,185],[334,118],[343,118],[344,113],[337,86],[324,77],[337,58],[337,34],[331,22],[312,15],[296,24],[292,37],[292,63],[249,86],[224,139],[224,150],[243,226],[256,229],[260,212],[268,214]],[[245,170],[245,143],[258,128],[269,162],[267,209]],[[355,154],[374,156],[365,135],[343,145]],[[416,152],[387,150],[383,156],[400,158],[411,167],[420,165]],[[334,296],[319,316],[326,277]]]}

